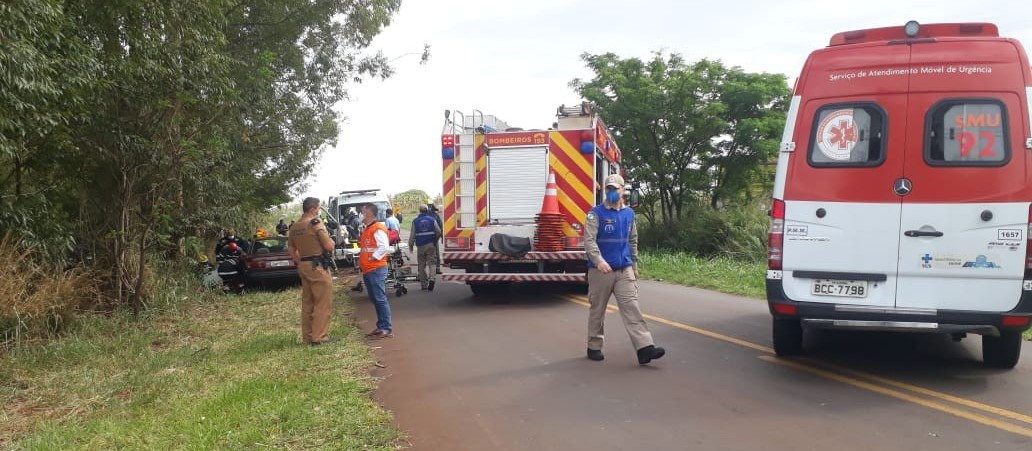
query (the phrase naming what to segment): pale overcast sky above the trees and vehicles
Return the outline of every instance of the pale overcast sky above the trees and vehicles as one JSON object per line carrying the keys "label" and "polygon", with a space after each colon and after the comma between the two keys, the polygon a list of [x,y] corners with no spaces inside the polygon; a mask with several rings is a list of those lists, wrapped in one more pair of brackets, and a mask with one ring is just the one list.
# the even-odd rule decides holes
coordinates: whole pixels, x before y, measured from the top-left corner
{"label": "pale overcast sky above the trees and vehicles", "polygon": [[[699,2],[675,0],[404,0],[372,50],[394,62],[387,80],[352,86],[335,148],[326,149],[303,195],[381,188],[441,193],[445,109],[473,108],[511,126],[547,128],[569,88],[590,77],[580,55],[648,58],[656,50],[689,61],[718,59],[748,71],[799,76],[807,55],[832,34],[941,22],[991,22],[1032,47],[1027,0]],[[419,65],[423,42],[430,61]]]}

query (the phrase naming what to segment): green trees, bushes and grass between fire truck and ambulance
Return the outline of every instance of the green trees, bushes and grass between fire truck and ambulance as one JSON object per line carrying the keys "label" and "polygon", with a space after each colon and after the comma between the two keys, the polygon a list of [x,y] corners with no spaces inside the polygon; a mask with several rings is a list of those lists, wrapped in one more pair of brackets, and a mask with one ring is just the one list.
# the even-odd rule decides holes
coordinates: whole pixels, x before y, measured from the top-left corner
{"label": "green trees, bushes and grass between fire truck and ambulance", "polygon": [[642,276],[763,297],[784,76],[664,52],[582,58],[593,74],[571,86],[615,129],[640,184]]}

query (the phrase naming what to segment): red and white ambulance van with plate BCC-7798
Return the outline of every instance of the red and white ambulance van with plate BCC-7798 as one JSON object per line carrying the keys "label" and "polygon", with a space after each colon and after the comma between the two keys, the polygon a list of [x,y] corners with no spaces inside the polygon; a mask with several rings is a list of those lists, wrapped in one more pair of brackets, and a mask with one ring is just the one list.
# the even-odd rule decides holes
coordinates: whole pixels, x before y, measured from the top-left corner
{"label": "red and white ambulance van with plate BCC-7798", "polygon": [[1032,317],[1032,70],[992,24],[838,33],[796,83],[767,298],[803,331],[982,335],[1012,367]]}

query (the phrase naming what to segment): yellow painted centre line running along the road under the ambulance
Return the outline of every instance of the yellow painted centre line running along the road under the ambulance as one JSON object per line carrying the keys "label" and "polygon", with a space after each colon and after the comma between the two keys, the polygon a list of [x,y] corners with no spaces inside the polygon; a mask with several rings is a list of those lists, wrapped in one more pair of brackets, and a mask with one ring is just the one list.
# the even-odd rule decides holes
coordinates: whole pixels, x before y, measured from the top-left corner
{"label": "yellow painted centre line running along the road under the ambulance", "polygon": [[[571,301],[571,302],[574,302],[574,303],[577,303],[577,304],[580,304],[580,305],[584,305],[584,307],[591,307],[591,304],[587,301],[587,298],[585,298],[583,296],[563,296],[563,297],[567,300]],[[613,305],[608,305],[607,310],[609,312],[617,312],[618,311],[617,308],[613,307]],[[738,345],[738,346],[741,346],[741,347],[744,347],[744,348],[749,348],[749,349],[752,349],[752,350],[756,350],[756,351],[760,351],[760,352],[763,352],[763,353],[766,353],[766,354],[771,354],[771,355],[774,354],[774,350],[772,348],[767,347],[767,346],[763,346],[763,345],[759,345],[759,344],[755,344],[755,343],[752,343],[752,342],[748,342],[748,341],[745,341],[745,340],[736,339],[734,336],[724,335],[722,333],[717,333],[717,332],[714,332],[714,331],[711,331],[711,330],[701,329],[699,327],[689,326],[687,324],[684,324],[684,323],[681,323],[681,322],[677,322],[677,321],[671,321],[671,320],[668,320],[666,318],[660,318],[660,317],[657,317],[657,316],[654,316],[654,315],[643,314],[642,317],[644,317],[647,320],[654,321],[654,322],[657,322],[657,323],[660,323],[660,324],[666,324],[666,325],[671,326],[671,327],[675,327],[675,328],[678,328],[678,329],[682,329],[682,330],[687,330],[687,331],[690,331],[690,332],[699,333],[701,335],[708,336],[710,339],[718,340],[718,341],[725,342],[725,343],[731,343],[731,344]],[[1008,419],[1015,420],[1015,421],[1021,421],[1021,422],[1024,422],[1024,423],[1032,424],[1032,416],[1028,416],[1028,415],[1021,414],[1021,413],[1018,413],[1018,412],[1009,411],[1009,410],[1006,410],[1006,409],[997,408],[997,407],[994,407],[994,406],[989,406],[989,405],[986,405],[986,404],[982,404],[982,402],[978,402],[978,401],[975,401],[975,400],[971,400],[971,399],[967,399],[967,398],[963,398],[963,397],[959,397],[959,396],[954,396],[954,395],[950,395],[950,394],[942,393],[942,392],[931,390],[931,389],[928,389],[928,388],[918,387],[918,386],[907,384],[907,383],[904,383],[904,382],[894,381],[892,379],[886,379],[886,378],[882,378],[882,377],[879,377],[879,376],[874,376],[874,375],[871,375],[871,374],[868,374],[868,373],[863,373],[863,372],[859,372],[859,371],[856,371],[856,369],[849,369],[849,368],[846,368],[846,367],[843,367],[843,366],[839,366],[839,365],[835,365],[835,364],[831,364],[831,363],[820,362],[819,365],[832,368],[832,369],[834,369],[834,371],[836,371],[836,372],[838,372],[840,374],[836,374],[836,373],[832,373],[832,372],[829,372],[829,371],[825,371],[825,369],[820,369],[818,367],[815,367],[814,365],[816,365],[817,363],[812,362],[812,361],[810,362],[810,365],[805,365],[805,364],[802,364],[802,363],[792,362],[792,361],[787,361],[787,360],[784,360],[784,359],[778,359],[778,358],[772,357],[772,356],[761,356],[760,358],[763,359],[763,360],[765,360],[765,361],[770,361],[770,362],[773,362],[773,363],[783,364],[785,366],[791,366],[791,367],[794,367],[794,368],[797,368],[797,369],[802,369],[802,371],[805,371],[805,372],[808,372],[808,373],[811,373],[811,374],[814,374],[814,375],[827,377],[829,379],[833,379],[833,380],[836,380],[836,381],[839,381],[839,382],[843,382],[845,384],[852,385],[854,387],[868,389],[868,390],[875,391],[875,392],[882,393],[882,394],[886,394],[889,396],[893,396],[893,397],[896,397],[896,398],[899,398],[899,399],[904,399],[904,400],[907,400],[907,401],[911,401],[911,402],[914,402],[914,404],[917,404],[917,405],[921,405],[921,406],[924,406],[924,407],[927,407],[927,408],[930,408],[930,409],[938,410],[938,411],[941,411],[941,412],[944,412],[944,413],[947,413],[947,414],[950,414],[950,415],[955,415],[955,416],[959,416],[959,417],[962,417],[962,418],[965,418],[965,419],[969,419],[971,421],[975,421],[975,422],[980,423],[980,424],[990,425],[990,426],[993,426],[993,427],[997,427],[997,428],[1000,428],[1000,429],[1003,429],[1003,430],[1007,430],[1007,431],[1019,433],[1019,434],[1026,436],[1026,437],[1032,437],[1032,429],[1029,429],[1029,428],[1026,428],[1026,427],[1022,427],[1022,426],[1018,426],[1018,425],[1013,425],[1013,424],[1006,423],[1006,422],[1003,422],[1003,421],[995,420],[995,419],[992,419],[992,418],[983,417],[983,416],[980,416],[980,415],[972,414],[972,413],[969,413],[969,412],[966,412],[966,411],[958,410],[958,409],[955,409],[955,408],[953,408],[950,406],[942,405],[942,404],[935,402],[935,401],[932,401],[932,400],[923,399],[923,398],[920,398],[920,397],[916,397],[916,396],[913,396],[913,395],[910,395],[910,394],[907,394],[907,393],[903,393],[903,392],[900,392],[900,391],[893,390],[891,388],[877,386],[877,385],[874,385],[874,384],[872,384],[870,382],[862,381],[861,379],[867,379],[869,381],[876,382],[876,383],[879,383],[879,384],[882,384],[882,385],[886,385],[886,386],[890,386],[890,387],[901,388],[901,389],[904,389],[904,390],[912,391],[914,393],[920,393],[920,394],[923,394],[923,395],[926,395],[926,396],[930,396],[930,397],[934,397],[934,398],[946,400],[946,401],[954,402],[954,404],[957,404],[957,405],[960,405],[960,406],[965,406],[965,407],[968,407],[968,408],[971,408],[971,409],[976,409],[976,410],[979,410],[979,411],[982,411],[982,412],[986,412],[986,413],[998,415],[1000,417],[1008,418]],[[848,375],[848,376],[845,376],[845,375]]]}

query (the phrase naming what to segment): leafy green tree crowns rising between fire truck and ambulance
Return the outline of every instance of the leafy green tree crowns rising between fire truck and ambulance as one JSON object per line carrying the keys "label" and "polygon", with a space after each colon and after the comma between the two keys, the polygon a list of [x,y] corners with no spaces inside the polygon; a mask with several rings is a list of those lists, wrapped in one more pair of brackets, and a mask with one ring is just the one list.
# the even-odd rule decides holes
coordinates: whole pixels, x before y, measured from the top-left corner
{"label": "leafy green tree crowns rising between fire truck and ambulance", "polygon": [[748,73],[680,55],[649,60],[584,54],[594,72],[571,86],[595,103],[664,221],[684,218],[700,197],[713,207],[743,193],[773,156],[788,88],[781,74]]}

